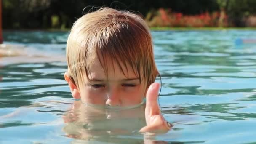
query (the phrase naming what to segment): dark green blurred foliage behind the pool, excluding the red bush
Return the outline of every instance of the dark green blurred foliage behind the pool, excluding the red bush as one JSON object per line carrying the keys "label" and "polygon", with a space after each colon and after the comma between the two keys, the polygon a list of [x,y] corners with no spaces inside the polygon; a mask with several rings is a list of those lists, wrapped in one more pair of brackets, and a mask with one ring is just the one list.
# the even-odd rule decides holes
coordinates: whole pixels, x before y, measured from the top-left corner
{"label": "dark green blurred foliage behind the pool, excluding the red bush", "polygon": [[153,18],[150,11],[159,8],[184,15],[224,9],[238,26],[243,26],[244,17],[256,14],[256,0],[2,0],[2,3],[4,29],[70,28],[84,13],[96,10],[93,6],[135,11],[147,20]]}

